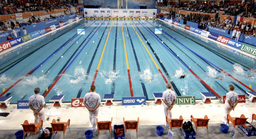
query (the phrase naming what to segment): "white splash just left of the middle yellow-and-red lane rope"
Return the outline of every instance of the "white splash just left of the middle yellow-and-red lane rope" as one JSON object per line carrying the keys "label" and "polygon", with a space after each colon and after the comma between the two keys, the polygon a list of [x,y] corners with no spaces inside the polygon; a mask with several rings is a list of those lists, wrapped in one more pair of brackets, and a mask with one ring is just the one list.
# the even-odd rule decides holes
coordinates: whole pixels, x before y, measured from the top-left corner
{"label": "white splash just left of the middle yellow-and-red lane rope", "polygon": [[119,71],[101,71],[100,76],[104,78],[105,84],[110,84],[113,81],[116,81],[120,76],[118,76]]}

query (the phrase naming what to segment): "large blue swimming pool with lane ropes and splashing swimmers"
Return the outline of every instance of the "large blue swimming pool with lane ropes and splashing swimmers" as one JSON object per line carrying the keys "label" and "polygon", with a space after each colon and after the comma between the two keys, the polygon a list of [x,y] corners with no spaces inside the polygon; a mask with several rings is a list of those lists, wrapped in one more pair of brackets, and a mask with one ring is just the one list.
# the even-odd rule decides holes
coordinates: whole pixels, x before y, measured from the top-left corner
{"label": "large blue swimming pool with lane ropes and splashing swimmers", "polygon": [[[166,34],[155,34],[156,28]],[[77,29],[85,29],[85,34],[77,35]],[[56,94],[70,102],[83,98],[92,83],[102,100],[110,93],[115,100],[131,95],[152,100],[152,93],[166,90],[166,82],[172,83],[177,95],[199,99],[200,92],[209,88],[190,70],[220,96],[228,92],[229,84],[238,94],[249,91],[209,62],[252,89],[256,85],[254,78],[247,77],[256,76],[248,69],[255,69],[254,59],[160,20],[84,20],[0,58],[0,88],[9,88],[34,69],[3,95],[13,96],[13,103],[27,100],[35,87],[41,88],[46,102]],[[187,76],[180,79],[182,74]]]}

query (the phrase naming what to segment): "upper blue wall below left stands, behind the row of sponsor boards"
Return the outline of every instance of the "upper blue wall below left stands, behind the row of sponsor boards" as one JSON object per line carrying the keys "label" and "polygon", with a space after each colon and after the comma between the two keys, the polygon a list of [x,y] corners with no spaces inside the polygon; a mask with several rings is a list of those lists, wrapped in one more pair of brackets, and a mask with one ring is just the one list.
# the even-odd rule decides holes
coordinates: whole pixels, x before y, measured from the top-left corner
{"label": "upper blue wall below left stands, behind the row of sponsor boards", "polygon": [[[27,34],[32,33],[34,31],[38,31],[40,33],[40,35],[41,35],[41,34],[45,33],[44,29],[46,27],[55,25],[57,23],[60,23],[60,21],[66,21],[66,20],[69,20],[69,19],[73,19],[74,17],[76,17],[76,14],[64,16],[64,17],[61,17],[61,18],[50,19],[50,20],[48,20],[48,22],[40,22],[38,24],[33,24],[33,25],[25,26],[25,28],[26,28]],[[23,28],[24,27],[15,28],[17,36],[24,35],[23,31],[22,31]],[[13,30],[9,30],[9,31],[5,31],[3,33],[0,33],[0,42],[7,41],[8,40],[7,37],[14,37],[13,34],[12,34],[12,31]]]}

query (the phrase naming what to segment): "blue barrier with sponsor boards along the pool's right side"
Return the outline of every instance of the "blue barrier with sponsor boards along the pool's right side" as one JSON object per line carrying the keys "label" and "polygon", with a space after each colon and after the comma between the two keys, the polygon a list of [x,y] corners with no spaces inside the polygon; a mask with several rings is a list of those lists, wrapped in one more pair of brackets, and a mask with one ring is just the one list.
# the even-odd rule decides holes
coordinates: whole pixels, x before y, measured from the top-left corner
{"label": "blue barrier with sponsor boards along the pool's right side", "polygon": [[[228,46],[231,46],[233,48],[239,49],[241,51],[244,51],[244,52],[247,52],[249,54],[252,54],[252,55],[256,56],[256,47],[251,46],[249,44],[245,44],[245,43],[240,42],[240,41],[235,41],[235,40],[232,40],[230,38],[221,36],[219,34],[215,34],[215,33],[209,32],[209,31],[205,31],[205,30],[202,30],[202,29],[194,28],[194,27],[191,27],[189,25],[180,24],[177,21],[173,21],[173,20],[170,20],[170,19],[167,19],[167,18],[164,18],[164,21],[166,21],[168,23],[171,23],[171,24],[174,24],[176,26],[182,27],[182,28],[184,28],[186,30],[193,31],[193,32],[195,32],[197,34],[200,34],[202,36],[208,37],[208,38],[210,38],[212,40],[219,41],[222,44],[226,44]],[[250,37],[252,37],[252,36],[250,36]]]}

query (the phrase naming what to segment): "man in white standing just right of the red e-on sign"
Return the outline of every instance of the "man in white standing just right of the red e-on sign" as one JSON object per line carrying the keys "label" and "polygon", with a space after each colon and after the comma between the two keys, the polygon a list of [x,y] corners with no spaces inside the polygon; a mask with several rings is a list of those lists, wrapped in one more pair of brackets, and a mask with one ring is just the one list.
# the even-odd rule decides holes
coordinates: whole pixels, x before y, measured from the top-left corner
{"label": "man in white standing just right of the red e-on sign", "polygon": [[96,130],[97,130],[96,119],[98,117],[99,106],[100,106],[100,102],[101,102],[100,95],[95,92],[95,89],[96,89],[95,86],[92,85],[90,87],[91,92],[86,93],[84,95],[84,99],[83,99],[83,104],[89,111],[89,119],[90,119],[90,122],[92,124],[93,133],[95,133]]}

